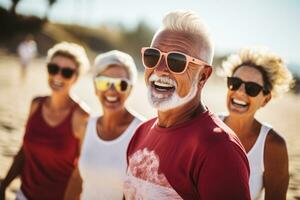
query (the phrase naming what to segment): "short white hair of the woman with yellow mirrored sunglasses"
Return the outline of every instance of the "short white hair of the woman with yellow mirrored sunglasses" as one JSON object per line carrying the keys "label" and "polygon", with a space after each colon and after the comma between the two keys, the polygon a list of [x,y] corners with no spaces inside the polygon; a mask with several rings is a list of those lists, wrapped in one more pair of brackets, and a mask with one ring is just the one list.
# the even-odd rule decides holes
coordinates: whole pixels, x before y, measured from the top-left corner
{"label": "short white hair of the woman with yellow mirrored sunglasses", "polygon": [[128,72],[129,80],[134,84],[137,80],[137,69],[133,58],[122,51],[112,50],[100,54],[95,58],[93,74],[94,77],[106,70],[110,65],[117,64],[124,67]]}

